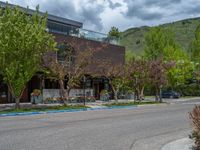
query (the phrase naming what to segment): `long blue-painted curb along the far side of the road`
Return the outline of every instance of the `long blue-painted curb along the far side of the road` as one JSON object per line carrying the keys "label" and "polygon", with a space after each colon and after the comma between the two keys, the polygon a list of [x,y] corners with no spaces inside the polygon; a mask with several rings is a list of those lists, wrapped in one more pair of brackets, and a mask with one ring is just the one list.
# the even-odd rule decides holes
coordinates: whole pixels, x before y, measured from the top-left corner
{"label": "long blue-painted curb along the far side of the road", "polygon": [[7,113],[0,114],[0,117],[9,116],[28,116],[39,114],[51,114],[51,113],[63,113],[63,112],[81,112],[81,111],[94,111],[94,110],[110,110],[110,109],[132,109],[137,106],[113,106],[113,107],[97,107],[97,108],[82,108],[82,109],[70,109],[70,110],[50,110],[50,111],[38,111],[38,112],[19,112],[19,113]]}

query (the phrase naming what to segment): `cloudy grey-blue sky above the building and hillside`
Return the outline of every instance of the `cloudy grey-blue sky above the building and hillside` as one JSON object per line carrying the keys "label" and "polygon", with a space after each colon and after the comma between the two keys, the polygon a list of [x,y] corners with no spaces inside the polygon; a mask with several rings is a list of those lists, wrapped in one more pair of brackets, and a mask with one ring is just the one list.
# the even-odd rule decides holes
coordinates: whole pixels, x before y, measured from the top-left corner
{"label": "cloudy grey-blue sky above the building and hillside", "polygon": [[108,32],[154,26],[200,17],[200,0],[3,0],[84,23],[85,29]]}

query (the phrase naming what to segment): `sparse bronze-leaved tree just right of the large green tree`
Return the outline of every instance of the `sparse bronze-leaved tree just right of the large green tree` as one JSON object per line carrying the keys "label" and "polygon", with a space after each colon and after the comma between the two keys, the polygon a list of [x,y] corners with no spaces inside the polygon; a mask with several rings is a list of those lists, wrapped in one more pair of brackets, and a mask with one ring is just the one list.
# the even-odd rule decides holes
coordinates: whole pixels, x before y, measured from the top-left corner
{"label": "sparse bronze-leaved tree just right of the large green tree", "polygon": [[92,63],[95,50],[87,47],[82,50],[81,47],[83,44],[79,43],[77,46],[75,42],[60,44],[58,52],[62,53],[63,60],[49,57],[49,63],[45,66],[50,72],[48,76],[59,82],[64,105],[68,104],[71,89],[80,86],[83,76],[88,73]]}

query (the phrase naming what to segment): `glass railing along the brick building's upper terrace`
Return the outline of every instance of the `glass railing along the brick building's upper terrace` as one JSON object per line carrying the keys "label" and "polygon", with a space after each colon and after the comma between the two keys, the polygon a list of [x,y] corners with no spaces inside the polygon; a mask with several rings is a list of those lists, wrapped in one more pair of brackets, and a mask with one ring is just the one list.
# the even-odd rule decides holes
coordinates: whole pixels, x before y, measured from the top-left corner
{"label": "glass railing along the brick building's upper terrace", "polygon": [[85,30],[82,28],[76,28],[67,25],[58,25],[58,24],[49,24],[48,29],[49,32],[70,35],[78,38],[85,38],[88,40],[94,40],[98,42],[109,43],[113,45],[119,45],[119,38],[109,36],[107,34]]}

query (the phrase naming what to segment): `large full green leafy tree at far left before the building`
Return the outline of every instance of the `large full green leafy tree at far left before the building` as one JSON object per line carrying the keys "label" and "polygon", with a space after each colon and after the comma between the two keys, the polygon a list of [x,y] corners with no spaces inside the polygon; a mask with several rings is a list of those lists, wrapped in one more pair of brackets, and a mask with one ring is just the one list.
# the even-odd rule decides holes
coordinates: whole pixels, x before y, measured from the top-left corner
{"label": "large full green leafy tree at far left before the building", "polygon": [[32,16],[19,8],[0,9],[0,66],[9,91],[20,107],[27,82],[40,69],[43,55],[55,50],[52,35],[46,32],[46,16],[38,7]]}

